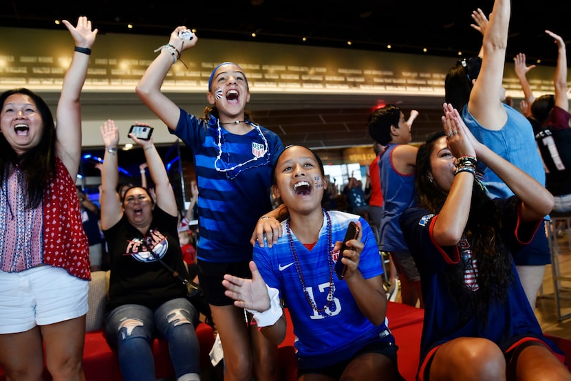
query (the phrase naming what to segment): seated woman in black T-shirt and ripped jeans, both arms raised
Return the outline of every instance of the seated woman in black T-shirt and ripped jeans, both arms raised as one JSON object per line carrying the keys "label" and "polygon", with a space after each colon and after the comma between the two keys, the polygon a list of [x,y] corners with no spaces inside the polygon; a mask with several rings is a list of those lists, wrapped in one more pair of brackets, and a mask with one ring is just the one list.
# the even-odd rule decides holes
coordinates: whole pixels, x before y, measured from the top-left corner
{"label": "seated woman in black T-shirt and ripped jeans, both arms raised", "polygon": [[151,345],[157,333],[169,342],[177,380],[200,380],[198,312],[186,298],[186,286],[173,276],[175,270],[188,279],[178,242],[178,208],[166,168],[150,136],[143,140],[129,133],[143,149],[156,202],[141,186],[131,186],[120,200],[116,193],[118,127],[107,120],[100,130],[105,144],[101,227],[111,268],[105,338],[117,349],[125,380],[155,380]]}

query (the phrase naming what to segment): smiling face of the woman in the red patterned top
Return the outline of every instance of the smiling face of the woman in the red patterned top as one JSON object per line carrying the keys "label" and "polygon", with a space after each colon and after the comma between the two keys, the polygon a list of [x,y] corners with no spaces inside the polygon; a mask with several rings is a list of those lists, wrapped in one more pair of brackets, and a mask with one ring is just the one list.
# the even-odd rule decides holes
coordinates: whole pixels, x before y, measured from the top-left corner
{"label": "smiling face of the woman in the red patterned top", "polygon": [[6,98],[0,111],[0,132],[17,155],[39,144],[43,120],[30,96],[17,93]]}

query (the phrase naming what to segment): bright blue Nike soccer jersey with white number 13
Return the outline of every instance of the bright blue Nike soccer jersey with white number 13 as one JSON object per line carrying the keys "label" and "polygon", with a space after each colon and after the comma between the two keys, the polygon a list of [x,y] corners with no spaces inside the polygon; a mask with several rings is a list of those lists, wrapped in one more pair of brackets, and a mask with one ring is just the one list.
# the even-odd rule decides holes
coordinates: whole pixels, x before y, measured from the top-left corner
{"label": "bright blue Nike soccer jersey with white number 13", "polygon": [[[363,226],[362,241],[365,244],[358,268],[365,279],[383,274],[378,246],[367,221],[345,212],[328,213],[332,224],[332,246],[336,241],[343,241],[349,221],[358,219]],[[339,253],[327,247],[326,215],[319,240],[312,250],[305,248],[293,233],[289,235],[295,255],[290,250],[286,221],[282,227],[283,235],[272,248],[255,246],[254,261],[264,281],[279,290],[290,312],[300,365],[327,367],[351,358],[370,342],[383,340],[394,343],[387,320],[378,327],[373,325],[360,312],[347,283],[340,281],[334,272],[332,274],[331,265],[336,263]],[[329,302],[327,296],[332,289],[331,280],[334,292]]]}

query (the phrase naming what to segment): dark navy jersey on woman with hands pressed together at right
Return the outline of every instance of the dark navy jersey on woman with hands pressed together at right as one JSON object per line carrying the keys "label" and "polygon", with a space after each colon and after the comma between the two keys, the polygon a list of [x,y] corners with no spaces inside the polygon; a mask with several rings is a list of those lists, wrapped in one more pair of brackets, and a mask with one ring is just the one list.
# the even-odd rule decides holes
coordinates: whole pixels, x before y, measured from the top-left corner
{"label": "dark navy jersey on woman with hands pressed together at right", "polygon": [[[498,255],[509,256],[509,251],[521,250],[537,230],[541,221],[524,223],[517,214],[517,199],[494,199],[499,212],[487,210],[485,215],[501,215],[502,229],[496,239],[506,246]],[[508,351],[526,338],[546,342],[553,351],[559,349],[543,337],[541,327],[521,287],[515,265],[512,263],[513,281],[506,290],[504,301],[493,301],[488,307],[487,323],[482,323],[475,311],[468,311],[460,318],[459,306],[449,293],[446,283],[446,267],[462,266],[464,283],[477,292],[478,265],[472,252],[471,241],[462,237],[456,246],[441,247],[433,239],[433,225],[437,215],[422,208],[409,208],[402,213],[400,225],[410,252],[420,272],[422,298],[424,300],[424,325],[420,342],[420,367],[427,355],[438,346],[459,337],[482,337],[495,342],[503,351]]]}

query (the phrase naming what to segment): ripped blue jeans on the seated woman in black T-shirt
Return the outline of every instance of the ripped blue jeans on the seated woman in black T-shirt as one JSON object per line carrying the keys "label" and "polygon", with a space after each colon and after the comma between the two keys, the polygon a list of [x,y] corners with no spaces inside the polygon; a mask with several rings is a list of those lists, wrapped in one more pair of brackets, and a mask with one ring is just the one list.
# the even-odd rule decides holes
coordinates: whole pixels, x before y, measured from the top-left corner
{"label": "ripped blue jeans on the seated woman in black T-shirt", "polygon": [[186,298],[166,301],[154,312],[142,305],[127,304],[105,314],[105,338],[117,349],[126,381],[155,381],[153,339],[165,338],[179,378],[200,373],[197,322],[198,312]]}

